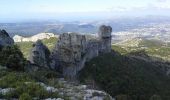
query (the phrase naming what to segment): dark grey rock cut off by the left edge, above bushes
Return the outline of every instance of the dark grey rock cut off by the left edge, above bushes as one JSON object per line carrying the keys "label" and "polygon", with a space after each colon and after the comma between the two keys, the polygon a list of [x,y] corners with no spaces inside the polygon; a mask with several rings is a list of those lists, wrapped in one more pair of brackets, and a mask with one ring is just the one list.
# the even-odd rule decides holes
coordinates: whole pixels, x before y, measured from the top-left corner
{"label": "dark grey rock cut off by the left edge, above bushes", "polygon": [[14,40],[5,30],[0,30],[0,47],[10,46],[14,44]]}

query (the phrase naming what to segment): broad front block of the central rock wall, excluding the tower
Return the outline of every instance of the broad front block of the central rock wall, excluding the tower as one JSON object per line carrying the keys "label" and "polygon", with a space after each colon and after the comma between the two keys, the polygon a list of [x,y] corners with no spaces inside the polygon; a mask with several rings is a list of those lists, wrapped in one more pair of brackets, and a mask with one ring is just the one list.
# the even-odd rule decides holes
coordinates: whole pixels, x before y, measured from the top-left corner
{"label": "broad front block of the central rock wall, excluding the tower", "polygon": [[76,33],[64,33],[60,35],[55,50],[63,75],[75,76],[85,57],[86,38]]}

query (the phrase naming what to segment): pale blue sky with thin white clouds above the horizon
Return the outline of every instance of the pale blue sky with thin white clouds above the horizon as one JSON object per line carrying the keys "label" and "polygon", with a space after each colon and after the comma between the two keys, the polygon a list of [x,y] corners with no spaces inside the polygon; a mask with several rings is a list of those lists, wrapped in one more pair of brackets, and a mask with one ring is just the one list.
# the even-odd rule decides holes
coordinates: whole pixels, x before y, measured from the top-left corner
{"label": "pale blue sky with thin white clouds above the horizon", "polygon": [[0,21],[167,15],[170,0],[1,0]]}

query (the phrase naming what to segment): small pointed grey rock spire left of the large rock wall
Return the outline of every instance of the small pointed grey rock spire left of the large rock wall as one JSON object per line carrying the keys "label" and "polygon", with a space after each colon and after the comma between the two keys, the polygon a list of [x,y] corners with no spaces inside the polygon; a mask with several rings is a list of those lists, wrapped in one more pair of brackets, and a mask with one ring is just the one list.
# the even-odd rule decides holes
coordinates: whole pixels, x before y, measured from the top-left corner
{"label": "small pointed grey rock spire left of the large rock wall", "polygon": [[49,59],[50,51],[48,48],[38,40],[35,44],[33,44],[33,48],[31,50],[30,62],[40,67],[49,68]]}

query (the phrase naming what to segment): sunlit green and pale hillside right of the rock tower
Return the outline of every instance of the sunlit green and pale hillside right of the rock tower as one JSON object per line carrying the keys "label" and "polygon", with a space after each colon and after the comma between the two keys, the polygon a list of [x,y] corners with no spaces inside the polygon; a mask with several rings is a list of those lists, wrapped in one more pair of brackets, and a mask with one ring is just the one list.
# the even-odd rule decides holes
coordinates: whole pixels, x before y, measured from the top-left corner
{"label": "sunlit green and pale hillside right of the rock tower", "polygon": [[127,54],[132,51],[145,50],[150,56],[159,57],[168,61],[170,60],[170,45],[160,40],[134,38],[115,43],[112,47],[122,54]]}

